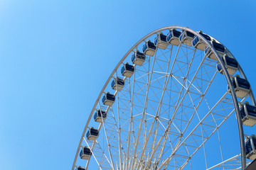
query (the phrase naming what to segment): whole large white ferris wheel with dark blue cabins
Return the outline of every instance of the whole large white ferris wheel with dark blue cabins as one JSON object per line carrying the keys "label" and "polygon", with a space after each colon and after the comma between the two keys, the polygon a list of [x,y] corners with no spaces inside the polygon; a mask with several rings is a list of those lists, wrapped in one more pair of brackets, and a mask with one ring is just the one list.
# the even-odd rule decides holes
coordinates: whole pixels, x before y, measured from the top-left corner
{"label": "whole large white ferris wheel with dark blue cabins", "polygon": [[87,114],[72,169],[245,169],[256,159],[245,73],[221,42],[190,28],[139,40]]}

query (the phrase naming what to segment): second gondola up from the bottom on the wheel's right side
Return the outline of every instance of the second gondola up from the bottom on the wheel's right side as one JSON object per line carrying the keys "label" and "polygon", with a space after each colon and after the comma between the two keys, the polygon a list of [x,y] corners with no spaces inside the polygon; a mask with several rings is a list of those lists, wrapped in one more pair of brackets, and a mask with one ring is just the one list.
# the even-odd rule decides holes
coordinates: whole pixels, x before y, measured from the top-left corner
{"label": "second gondola up from the bottom on the wheel's right side", "polygon": [[247,126],[254,126],[256,124],[256,107],[245,102],[240,109],[242,124]]}

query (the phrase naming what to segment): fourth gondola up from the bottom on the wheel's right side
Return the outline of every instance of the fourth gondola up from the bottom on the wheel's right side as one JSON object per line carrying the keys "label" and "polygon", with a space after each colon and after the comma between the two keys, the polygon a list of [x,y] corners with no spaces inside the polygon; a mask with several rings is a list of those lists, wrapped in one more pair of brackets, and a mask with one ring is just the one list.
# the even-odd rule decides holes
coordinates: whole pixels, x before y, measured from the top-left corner
{"label": "fourth gondola up from the bottom on the wheel's right side", "polygon": [[[228,57],[227,54],[225,54],[222,57],[222,60],[225,64],[226,69],[228,70],[228,74],[231,76],[235,74],[236,71],[238,71],[238,62],[234,58]],[[220,72],[220,74],[224,74],[222,67],[220,66],[220,63],[217,64],[217,70]]]}

